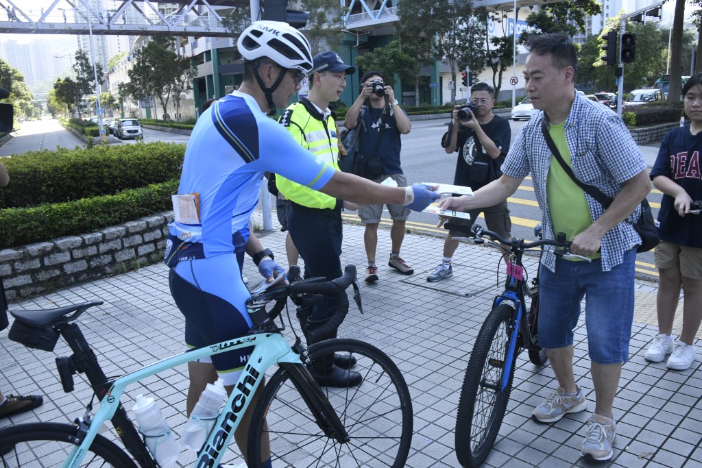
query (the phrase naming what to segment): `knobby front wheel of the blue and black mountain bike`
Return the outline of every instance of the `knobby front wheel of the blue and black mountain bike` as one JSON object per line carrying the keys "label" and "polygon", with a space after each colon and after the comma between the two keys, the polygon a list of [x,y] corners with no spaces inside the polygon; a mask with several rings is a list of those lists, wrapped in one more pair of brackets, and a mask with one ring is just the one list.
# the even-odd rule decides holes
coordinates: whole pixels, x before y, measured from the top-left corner
{"label": "knobby front wheel of the blue and black mountain bike", "polygon": [[[504,392],[499,390],[510,345],[515,309],[498,305],[488,314],[475,340],[465,371],[456,415],[456,457],[465,468],[478,467],[495,443],[512,392],[518,349],[508,369]],[[486,385],[488,384],[488,385]],[[489,387],[492,386],[493,388]]]}

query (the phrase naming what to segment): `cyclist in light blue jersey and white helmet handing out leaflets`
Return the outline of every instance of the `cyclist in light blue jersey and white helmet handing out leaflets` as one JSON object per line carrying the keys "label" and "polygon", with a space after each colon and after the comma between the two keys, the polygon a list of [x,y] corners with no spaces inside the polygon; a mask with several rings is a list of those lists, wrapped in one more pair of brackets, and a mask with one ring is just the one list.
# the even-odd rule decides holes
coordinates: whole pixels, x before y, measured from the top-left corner
{"label": "cyclist in light blue jersey and white helmet handing out leaflets", "polygon": [[[312,69],[310,44],[297,29],[284,22],[254,22],[241,33],[237,47],[244,62],[241,86],[200,116],[185,149],[178,194],[194,196],[197,219],[169,224],[165,262],[171,267],[171,294],[185,316],[188,347],[226,340],[252,326],[244,305],[250,294],[241,280],[237,252],[246,246],[245,228],[258,204],[265,171],[355,203],[402,203],[423,210],[439,197],[435,187],[385,187],[336,171],[266,116],[287,105]],[[264,250],[255,260],[266,257],[272,253]],[[246,350],[213,356],[228,389],[248,356]],[[188,368],[188,413],[207,383],[203,367],[211,368],[207,363],[190,363]],[[242,451],[248,417],[235,434]]]}

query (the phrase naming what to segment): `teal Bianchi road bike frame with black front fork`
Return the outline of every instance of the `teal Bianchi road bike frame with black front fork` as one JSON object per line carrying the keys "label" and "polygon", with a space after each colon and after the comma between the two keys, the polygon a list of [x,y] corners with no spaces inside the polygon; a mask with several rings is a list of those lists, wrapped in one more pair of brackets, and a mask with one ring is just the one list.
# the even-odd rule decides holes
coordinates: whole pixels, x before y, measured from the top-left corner
{"label": "teal Bianchi road bike frame with black front fork", "polygon": [[[307,405],[310,406],[310,409],[317,417],[326,415],[326,419],[329,420],[329,427],[322,428],[324,432],[327,435],[336,436],[340,440],[347,439],[347,433],[343,424],[338,420],[336,412],[329,405],[329,401],[319,389],[319,386],[314,384],[311,375],[307,372],[307,368],[300,360],[300,356],[293,351],[286,339],[280,333],[255,333],[241,335],[206,347],[187,350],[112,381],[110,389],[100,399],[100,407],[93,416],[83,441],[72,450],[62,467],[72,468],[79,466],[102,424],[107,420],[112,420],[118,408],[121,408],[121,396],[128,385],[195,359],[251,346],[254,349],[251,356],[249,356],[249,361],[246,363],[237,384],[234,385],[225,408],[217,418],[210,434],[208,434],[195,466],[215,467],[218,465],[232,440],[234,432],[239,427],[241,415],[246,413],[246,409],[249,407],[249,396],[256,392],[256,389],[258,389],[265,377],[265,371],[274,364],[280,364],[286,370],[289,370],[300,394],[303,395]],[[130,427],[131,429],[129,429]],[[133,447],[129,446],[128,439],[130,435],[135,436],[137,434],[135,426],[134,424],[127,424],[127,427],[122,427],[122,429],[122,431],[118,429],[117,432],[127,446],[127,450],[134,454]],[[125,431],[129,432],[130,430],[132,434],[125,434]],[[143,446],[144,444],[140,445]],[[141,462],[140,464],[143,465]],[[155,467],[156,465],[152,464],[152,466]]]}

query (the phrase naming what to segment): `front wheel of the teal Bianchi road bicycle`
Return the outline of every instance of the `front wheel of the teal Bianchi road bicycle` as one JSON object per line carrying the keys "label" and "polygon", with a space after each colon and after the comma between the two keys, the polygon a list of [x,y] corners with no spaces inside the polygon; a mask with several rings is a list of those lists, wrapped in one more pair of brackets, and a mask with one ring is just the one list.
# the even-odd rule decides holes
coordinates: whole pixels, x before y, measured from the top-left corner
{"label": "front wheel of the teal Bianchi road bicycle", "polygon": [[[280,467],[393,467],[401,468],[409,455],[413,413],[409,388],[387,354],[358,340],[319,342],[307,350],[310,359],[348,354],[352,368],[363,377],[357,387],[321,387],[343,422],[350,441],[327,437],[293,385],[279,368],[263,389],[253,411],[247,462],[261,467],[260,441],[267,427],[271,461]],[[267,424],[267,425],[266,425]]]}

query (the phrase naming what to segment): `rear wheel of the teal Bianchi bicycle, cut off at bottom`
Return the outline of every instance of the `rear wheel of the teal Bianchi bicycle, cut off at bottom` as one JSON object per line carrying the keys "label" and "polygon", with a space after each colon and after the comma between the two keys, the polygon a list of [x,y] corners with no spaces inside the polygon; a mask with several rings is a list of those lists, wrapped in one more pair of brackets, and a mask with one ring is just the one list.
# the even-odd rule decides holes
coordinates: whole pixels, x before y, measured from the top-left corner
{"label": "rear wheel of the teal Bianchi bicycle, cut off at bottom", "polygon": [[[59,467],[75,447],[76,426],[58,422],[33,422],[0,429],[2,446],[14,446],[0,457],[4,468]],[[95,436],[81,467],[136,468],[124,450],[105,438]]]}

